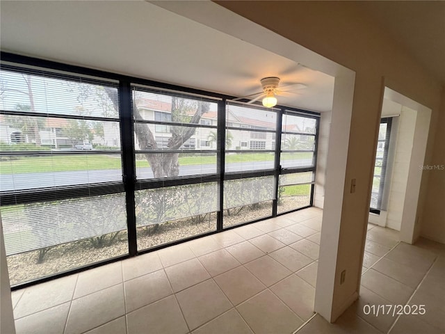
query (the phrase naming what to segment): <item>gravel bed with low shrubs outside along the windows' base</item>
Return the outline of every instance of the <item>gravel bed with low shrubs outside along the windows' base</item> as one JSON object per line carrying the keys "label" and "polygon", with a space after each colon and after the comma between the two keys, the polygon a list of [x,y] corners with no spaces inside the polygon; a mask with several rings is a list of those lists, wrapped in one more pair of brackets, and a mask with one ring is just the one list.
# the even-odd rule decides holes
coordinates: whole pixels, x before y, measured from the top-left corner
{"label": "gravel bed with low shrubs outside along the windows' base", "polygon": [[[309,202],[309,196],[293,196],[283,198],[279,212],[286,212],[296,207],[302,207]],[[243,208],[238,214],[227,216],[225,226],[252,221],[272,213],[270,204]],[[168,242],[184,239],[193,235],[216,230],[216,214],[205,217],[204,221],[194,223],[190,218],[138,228],[138,249],[147,249]],[[62,244],[50,248],[44,255],[44,262],[38,264],[38,250],[8,256],[8,270],[11,285],[17,285],[36,278],[42,278],[61,271],[67,271],[87,264],[92,264],[112,257],[127,254],[127,232],[118,234],[111,246],[95,248],[88,240]]]}

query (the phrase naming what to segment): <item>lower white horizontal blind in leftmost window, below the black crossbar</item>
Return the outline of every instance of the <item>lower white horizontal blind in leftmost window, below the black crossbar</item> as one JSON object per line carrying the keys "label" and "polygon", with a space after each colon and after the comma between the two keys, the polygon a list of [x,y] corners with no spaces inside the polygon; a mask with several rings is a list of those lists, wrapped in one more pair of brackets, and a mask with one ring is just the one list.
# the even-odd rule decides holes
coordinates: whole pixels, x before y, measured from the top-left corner
{"label": "lower white horizontal blind in leftmost window, below the black crossbar", "polygon": [[124,193],[1,208],[6,255],[126,230]]}

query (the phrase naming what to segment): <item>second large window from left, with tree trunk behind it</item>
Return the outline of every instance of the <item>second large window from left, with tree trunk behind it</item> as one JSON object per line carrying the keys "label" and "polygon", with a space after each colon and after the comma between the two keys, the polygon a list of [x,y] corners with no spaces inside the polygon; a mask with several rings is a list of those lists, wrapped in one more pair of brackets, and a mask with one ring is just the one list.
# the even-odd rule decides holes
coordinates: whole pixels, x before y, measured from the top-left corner
{"label": "second large window from left, with tree trunk behind it", "polygon": [[138,249],[216,230],[217,110],[216,100],[133,86]]}

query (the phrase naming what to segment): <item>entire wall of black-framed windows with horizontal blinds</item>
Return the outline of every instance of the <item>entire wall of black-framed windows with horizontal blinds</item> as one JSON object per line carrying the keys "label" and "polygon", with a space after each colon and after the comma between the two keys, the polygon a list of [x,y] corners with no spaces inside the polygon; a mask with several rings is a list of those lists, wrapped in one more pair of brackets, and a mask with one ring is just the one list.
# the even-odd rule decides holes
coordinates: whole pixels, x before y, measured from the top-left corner
{"label": "entire wall of black-framed windows with horizontal blinds", "polygon": [[312,204],[314,113],[2,57],[0,213],[14,287]]}

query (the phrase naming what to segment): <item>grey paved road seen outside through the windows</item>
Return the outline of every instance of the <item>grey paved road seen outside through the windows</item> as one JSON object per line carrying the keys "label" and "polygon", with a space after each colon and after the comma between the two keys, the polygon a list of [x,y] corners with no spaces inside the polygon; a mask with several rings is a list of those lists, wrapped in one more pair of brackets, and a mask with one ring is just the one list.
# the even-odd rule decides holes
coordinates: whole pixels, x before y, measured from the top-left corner
{"label": "grey paved road seen outside through the windows", "polygon": [[[285,166],[308,166],[312,159],[287,160]],[[234,162],[226,164],[226,172],[240,170],[259,170],[273,168],[273,161]],[[216,173],[213,164],[179,166],[179,175],[200,175]],[[152,169],[138,168],[139,179],[150,179],[153,177]],[[40,187],[67,186],[76,184],[87,184],[106,181],[122,180],[122,171],[118,169],[104,170],[75,170],[55,173],[22,173],[0,175],[0,191],[12,191],[19,189],[35,189]]]}

